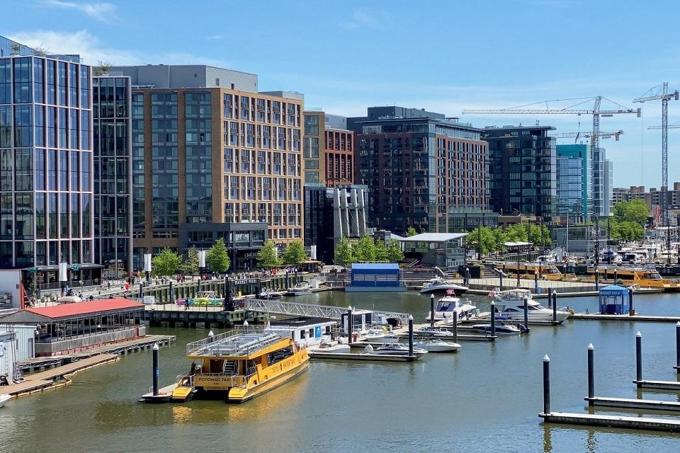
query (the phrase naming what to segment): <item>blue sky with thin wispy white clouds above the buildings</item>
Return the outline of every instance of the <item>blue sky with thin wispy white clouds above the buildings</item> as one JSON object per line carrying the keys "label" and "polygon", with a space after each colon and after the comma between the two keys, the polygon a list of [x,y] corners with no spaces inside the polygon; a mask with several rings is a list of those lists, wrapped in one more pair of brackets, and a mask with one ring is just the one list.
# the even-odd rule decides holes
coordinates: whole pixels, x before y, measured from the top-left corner
{"label": "blue sky with thin wispy white clouds above the buildings", "polygon": [[[365,115],[425,108],[476,127],[553,125],[589,132],[590,115],[461,115],[463,109],[641,107],[600,130],[614,185],[661,184],[661,102],[680,88],[676,3],[658,0],[79,1],[13,0],[0,35],[88,64],[210,64],[259,75],[262,91],[305,94],[307,107]],[[569,101],[572,99],[577,99]],[[583,99],[582,99],[583,98]],[[545,103],[549,100],[565,100]],[[669,124],[680,125],[680,101]],[[561,139],[558,143],[573,143]],[[680,129],[669,130],[669,185],[680,181]]]}

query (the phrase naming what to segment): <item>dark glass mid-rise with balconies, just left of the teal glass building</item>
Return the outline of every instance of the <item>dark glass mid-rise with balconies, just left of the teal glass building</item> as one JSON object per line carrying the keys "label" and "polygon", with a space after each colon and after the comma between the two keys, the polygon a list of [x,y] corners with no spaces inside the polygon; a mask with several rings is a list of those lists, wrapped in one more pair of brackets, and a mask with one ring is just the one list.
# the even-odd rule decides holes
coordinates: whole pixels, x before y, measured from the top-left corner
{"label": "dark glass mid-rise with balconies, just left of the teal glass building", "polygon": [[486,127],[490,204],[501,214],[521,212],[551,220],[557,197],[553,126]]}

